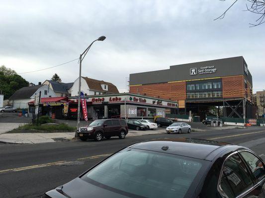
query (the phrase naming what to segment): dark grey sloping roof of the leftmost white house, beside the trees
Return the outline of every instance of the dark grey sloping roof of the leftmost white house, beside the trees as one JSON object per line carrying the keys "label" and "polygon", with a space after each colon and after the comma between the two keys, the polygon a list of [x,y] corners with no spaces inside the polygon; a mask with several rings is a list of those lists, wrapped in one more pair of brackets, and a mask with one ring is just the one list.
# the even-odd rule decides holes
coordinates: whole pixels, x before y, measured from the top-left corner
{"label": "dark grey sloping roof of the leftmost white house, beside the trees", "polygon": [[15,91],[9,99],[29,99],[39,88],[45,85],[36,85],[32,87],[22,87]]}

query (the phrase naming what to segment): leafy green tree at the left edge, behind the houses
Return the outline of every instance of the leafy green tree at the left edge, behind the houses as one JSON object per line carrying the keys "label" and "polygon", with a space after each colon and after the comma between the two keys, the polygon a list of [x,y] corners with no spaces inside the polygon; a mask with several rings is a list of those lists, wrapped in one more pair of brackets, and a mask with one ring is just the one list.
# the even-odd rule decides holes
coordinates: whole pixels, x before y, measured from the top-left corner
{"label": "leafy green tree at the left edge, behind the houses", "polygon": [[0,92],[4,95],[4,99],[8,99],[16,90],[27,86],[28,82],[14,70],[4,65],[0,67]]}

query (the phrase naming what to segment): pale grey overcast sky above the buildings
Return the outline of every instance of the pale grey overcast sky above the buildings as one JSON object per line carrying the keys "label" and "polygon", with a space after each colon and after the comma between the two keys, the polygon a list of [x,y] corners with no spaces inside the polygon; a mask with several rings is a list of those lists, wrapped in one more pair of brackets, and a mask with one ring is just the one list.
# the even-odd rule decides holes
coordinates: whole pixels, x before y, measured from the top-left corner
{"label": "pale grey overcast sky above the buildings", "polygon": [[[265,89],[265,24],[242,11],[245,0],[0,0],[0,65],[17,73],[79,57],[99,36],[83,61],[82,76],[112,82],[123,92],[130,73],[170,65],[243,56],[254,91]],[[20,74],[37,84],[57,73],[63,82],[79,75],[78,61]]]}

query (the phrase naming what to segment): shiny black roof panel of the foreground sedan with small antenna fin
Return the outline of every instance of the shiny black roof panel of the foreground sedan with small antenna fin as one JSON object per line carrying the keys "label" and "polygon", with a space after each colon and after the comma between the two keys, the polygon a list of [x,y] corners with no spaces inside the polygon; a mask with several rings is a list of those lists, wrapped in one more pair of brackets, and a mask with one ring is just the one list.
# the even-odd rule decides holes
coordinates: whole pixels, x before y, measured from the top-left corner
{"label": "shiny black roof panel of the foreground sedan with small antenna fin", "polygon": [[[217,155],[225,149],[229,148],[229,146],[234,145],[225,142],[217,142],[203,139],[165,138],[137,143],[135,145],[130,146],[129,148],[165,152],[169,154],[210,160],[208,156],[211,153],[214,152],[214,155]],[[168,147],[168,149],[163,150],[162,147]],[[212,156],[210,158],[212,160]]]}

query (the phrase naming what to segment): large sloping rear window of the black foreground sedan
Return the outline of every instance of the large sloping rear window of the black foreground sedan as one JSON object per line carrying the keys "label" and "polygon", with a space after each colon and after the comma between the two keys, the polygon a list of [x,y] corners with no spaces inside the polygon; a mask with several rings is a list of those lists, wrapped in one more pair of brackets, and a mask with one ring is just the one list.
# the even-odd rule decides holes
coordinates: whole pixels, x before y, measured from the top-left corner
{"label": "large sloping rear window of the black foreground sedan", "polygon": [[127,148],[82,179],[130,198],[184,198],[196,188],[204,163],[184,156]]}

